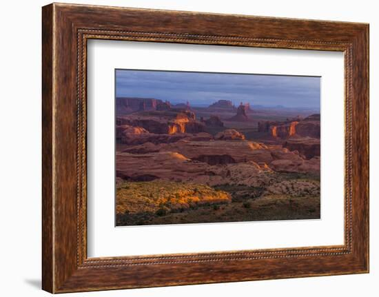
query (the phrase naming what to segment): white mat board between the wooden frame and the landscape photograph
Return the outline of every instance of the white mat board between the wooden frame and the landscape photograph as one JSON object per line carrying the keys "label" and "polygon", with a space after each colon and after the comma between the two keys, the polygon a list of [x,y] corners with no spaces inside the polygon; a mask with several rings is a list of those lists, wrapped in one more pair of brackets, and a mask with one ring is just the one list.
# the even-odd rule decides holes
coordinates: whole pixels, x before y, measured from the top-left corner
{"label": "white mat board between the wooden frame and the landscape photograph", "polygon": [[[344,156],[341,154],[345,130],[343,65],[342,52],[90,41],[88,256],[342,245],[345,177]],[[321,158],[321,219],[115,228],[112,199],[115,68],[321,76],[321,153],[327,152]]]}

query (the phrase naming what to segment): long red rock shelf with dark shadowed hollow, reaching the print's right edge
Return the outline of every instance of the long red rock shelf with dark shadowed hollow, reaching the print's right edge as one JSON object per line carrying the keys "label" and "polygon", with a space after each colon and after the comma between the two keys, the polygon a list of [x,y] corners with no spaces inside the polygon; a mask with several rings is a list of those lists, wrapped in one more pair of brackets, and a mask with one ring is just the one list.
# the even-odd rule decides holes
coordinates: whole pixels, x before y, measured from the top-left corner
{"label": "long red rock shelf with dark shadowed hollow, reaching the print's right edge", "polygon": [[[280,145],[263,145],[252,141],[189,141],[183,138],[176,142],[158,145],[146,143],[127,148],[123,152],[127,154],[176,152],[188,160],[212,165],[254,162],[260,168],[276,172],[320,172],[318,157],[307,160],[297,150],[290,151]],[[188,170],[192,170],[191,167]]]}

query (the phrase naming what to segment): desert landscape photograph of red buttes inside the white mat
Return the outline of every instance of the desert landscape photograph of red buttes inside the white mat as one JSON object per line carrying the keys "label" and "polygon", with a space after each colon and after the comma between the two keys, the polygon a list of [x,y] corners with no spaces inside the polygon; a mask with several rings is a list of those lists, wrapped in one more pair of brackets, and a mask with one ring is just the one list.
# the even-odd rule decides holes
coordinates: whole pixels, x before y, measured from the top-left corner
{"label": "desert landscape photograph of red buttes inside the white mat", "polygon": [[116,226],[320,219],[320,77],[115,70]]}

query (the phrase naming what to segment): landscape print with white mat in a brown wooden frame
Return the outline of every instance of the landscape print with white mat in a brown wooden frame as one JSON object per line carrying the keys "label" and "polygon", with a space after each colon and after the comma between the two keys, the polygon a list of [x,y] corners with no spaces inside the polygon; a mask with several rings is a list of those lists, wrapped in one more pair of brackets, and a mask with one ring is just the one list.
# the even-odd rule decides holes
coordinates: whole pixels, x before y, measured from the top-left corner
{"label": "landscape print with white mat in a brown wooden frame", "polygon": [[369,272],[369,25],[43,7],[43,289]]}

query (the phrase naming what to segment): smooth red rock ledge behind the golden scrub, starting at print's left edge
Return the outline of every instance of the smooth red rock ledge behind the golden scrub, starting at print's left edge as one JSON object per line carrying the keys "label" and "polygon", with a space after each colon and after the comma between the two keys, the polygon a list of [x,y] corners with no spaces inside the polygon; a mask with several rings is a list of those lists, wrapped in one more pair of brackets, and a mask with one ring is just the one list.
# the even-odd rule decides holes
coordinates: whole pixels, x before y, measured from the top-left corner
{"label": "smooth red rock ledge behind the golden scrub, starting at print's left edge", "polygon": [[240,183],[259,187],[274,179],[269,169],[253,162],[209,165],[206,162],[192,161],[176,152],[118,152],[116,168],[116,176],[130,181],[139,181],[148,175],[166,181],[208,185]]}

